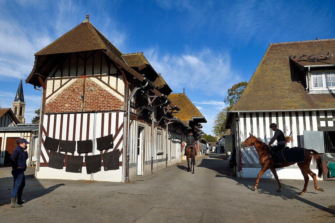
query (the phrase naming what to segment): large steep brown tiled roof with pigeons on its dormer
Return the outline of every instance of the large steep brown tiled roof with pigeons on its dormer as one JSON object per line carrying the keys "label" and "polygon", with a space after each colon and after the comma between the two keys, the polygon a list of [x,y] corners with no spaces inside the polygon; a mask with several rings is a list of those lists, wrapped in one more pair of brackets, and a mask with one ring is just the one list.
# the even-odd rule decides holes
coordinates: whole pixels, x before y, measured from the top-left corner
{"label": "large steep brown tiled roof with pigeons on its dormer", "polygon": [[305,73],[288,59],[324,52],[335,53],[335,39],[270,44],[231,111],[334,109],[335,95],[308,94]]}

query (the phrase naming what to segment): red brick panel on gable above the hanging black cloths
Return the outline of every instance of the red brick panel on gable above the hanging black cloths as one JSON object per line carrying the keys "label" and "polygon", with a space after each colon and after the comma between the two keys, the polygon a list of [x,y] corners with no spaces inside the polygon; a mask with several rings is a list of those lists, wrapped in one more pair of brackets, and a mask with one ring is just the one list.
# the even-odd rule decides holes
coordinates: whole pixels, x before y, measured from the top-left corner
{"label": "red brick panel on gable above the hanging black cloths", "polygon": [[[66,89],[60,89],[53,100],[45,105],[46,113],[81,112],[84,78],[76,80]],[[117,94],[117,93],[115,93]],[[123,109],[124,103],[100,87],[97,83],[85,78],[84,111],[113,111]]]}

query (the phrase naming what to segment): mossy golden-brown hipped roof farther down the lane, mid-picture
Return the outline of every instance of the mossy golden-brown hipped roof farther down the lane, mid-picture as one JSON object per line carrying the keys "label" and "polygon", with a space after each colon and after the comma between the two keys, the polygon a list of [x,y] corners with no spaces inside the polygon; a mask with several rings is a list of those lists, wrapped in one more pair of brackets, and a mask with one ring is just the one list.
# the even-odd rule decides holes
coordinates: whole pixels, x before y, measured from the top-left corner
{"label": "mossy golden-brown hipped roof farther down the lane, mid-picture", "polygon": [[172,103],[180,108],[180,112],[175,113],[174,115],[186,124],[188,124],[188,121],[186,120],[190,120],[192,117],[203,116],[185,93],[170,94],[167,97],[172,101]]}

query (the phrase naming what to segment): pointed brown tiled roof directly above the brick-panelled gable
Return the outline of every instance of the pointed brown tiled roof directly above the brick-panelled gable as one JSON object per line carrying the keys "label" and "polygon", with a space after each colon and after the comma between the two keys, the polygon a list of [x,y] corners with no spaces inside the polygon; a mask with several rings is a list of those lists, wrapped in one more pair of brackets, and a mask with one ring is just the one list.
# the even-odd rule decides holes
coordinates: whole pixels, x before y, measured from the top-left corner
{"label": "pointed brown tiled roof directly above the brick-panelled gable", "polygon": [[35,56],[107,49],[124,61],[122,53],[89,21],[87,21],[80,23],[72,30],[35,53]]}

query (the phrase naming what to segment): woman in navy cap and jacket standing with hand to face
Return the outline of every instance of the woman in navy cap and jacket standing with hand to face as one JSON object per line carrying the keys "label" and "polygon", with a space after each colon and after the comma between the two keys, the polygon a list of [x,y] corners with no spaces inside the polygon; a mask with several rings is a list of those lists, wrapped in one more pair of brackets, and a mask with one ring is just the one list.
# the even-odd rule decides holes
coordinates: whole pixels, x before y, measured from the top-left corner
{"label": "woman in navy cap and jacket standing with hand to face", "polygon": [[[13,154],[10,156],[10,162],[12,164],[12,175],[14,177],[14,186],[12,189],[12,202],[11,208],[23,207],[25,201],[22,201],[22,191],[25,186],[24,171],[27,169],[26,160],[28,159],[27,144],[24,138],[19,138],[15,141],[17,147],[14,149]],[[17,200],[16,200],[17,197]]]}

